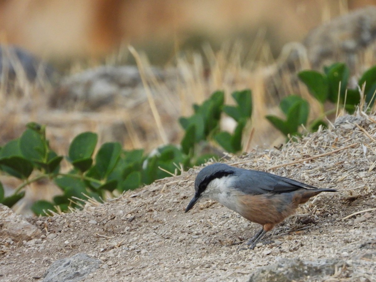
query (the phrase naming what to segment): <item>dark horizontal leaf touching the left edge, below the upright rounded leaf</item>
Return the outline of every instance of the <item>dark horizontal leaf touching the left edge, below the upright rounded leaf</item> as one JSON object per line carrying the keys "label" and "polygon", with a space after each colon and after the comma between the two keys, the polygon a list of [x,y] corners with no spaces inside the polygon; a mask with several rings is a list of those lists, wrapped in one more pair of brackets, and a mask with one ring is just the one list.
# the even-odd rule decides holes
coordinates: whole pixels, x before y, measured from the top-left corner
{"label": "dark horizontal leaf touching the left edge, below the upright rounded leaf", "polygon": [[[27,159],[12,156],[0,159],[2,170],[20,179],[26,179],[33,171],[33,165]],[[5,167],[4,167],[5,166]]]}

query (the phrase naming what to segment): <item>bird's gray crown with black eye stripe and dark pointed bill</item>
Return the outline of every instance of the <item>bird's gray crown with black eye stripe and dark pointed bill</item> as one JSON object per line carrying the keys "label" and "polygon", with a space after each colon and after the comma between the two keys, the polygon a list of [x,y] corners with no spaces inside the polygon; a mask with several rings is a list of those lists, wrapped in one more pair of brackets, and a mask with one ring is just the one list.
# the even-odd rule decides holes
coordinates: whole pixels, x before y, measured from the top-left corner
{"label": "bird's gray crown with black eye stripe and dark pointed bill", "polygon": [[221,163],[215,163],[204,167],[199,172],[199,174],[197,174],[196,180],[194,182],[194,189],[196,190],[196,193],[194,194],[191,202],[186,207],[185,212],[189,211],[202,197],[202,195],[205,194],[206,188],[208,187],[210,182],[234,174],[235,169],[236,168],[234,167],[230,167],[229,165]]}

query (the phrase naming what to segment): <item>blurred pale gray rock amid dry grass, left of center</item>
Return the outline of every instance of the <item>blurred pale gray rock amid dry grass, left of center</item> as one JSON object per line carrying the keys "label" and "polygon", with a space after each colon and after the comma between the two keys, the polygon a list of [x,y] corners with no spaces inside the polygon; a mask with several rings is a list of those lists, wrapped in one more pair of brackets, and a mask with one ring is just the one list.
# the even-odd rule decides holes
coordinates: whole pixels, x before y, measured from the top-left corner
{"label": "blurred pale gray rock amid dry grass, left of center", "polygon": [[[148,82],[165,80],[165,71],[149,68]],[[80,103],[84,110],[119,105],[133,108],[147,100],[141,76],[135,66],[103,66],[65,77],[50,100],[54,108],[72,108]],[[77,105],[76,105],[77,106]]]}

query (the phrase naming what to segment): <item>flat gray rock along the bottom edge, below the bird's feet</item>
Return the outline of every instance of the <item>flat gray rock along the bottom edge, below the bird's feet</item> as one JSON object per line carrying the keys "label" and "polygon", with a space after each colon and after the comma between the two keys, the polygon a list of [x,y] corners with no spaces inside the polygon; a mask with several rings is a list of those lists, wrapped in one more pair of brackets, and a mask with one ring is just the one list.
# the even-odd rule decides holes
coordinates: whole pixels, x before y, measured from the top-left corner
{"label": "flat gray rock along the bottom edge, below the bird's feet", "polygon": [[317,259],[315,261],[302,261],[300,259],[280,259],[276,264],[259,267],[252,273],[249,282],[289,282],[318,279],[332,275],[335,266],[344,264],[340,259]]}

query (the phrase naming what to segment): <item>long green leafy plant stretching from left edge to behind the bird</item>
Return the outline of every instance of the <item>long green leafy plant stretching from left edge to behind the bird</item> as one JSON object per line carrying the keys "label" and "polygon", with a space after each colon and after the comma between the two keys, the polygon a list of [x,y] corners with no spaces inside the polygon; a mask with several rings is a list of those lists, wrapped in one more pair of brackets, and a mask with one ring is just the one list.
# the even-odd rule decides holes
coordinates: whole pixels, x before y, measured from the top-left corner
{"label": "long green leafy plant stretching from left edge to behind the bird", "polygon": [[[205,162],[215,155],[195,155],[194,147],[211,136],[230,152],[239,151],[243,128],[252,113],[252,99],[249,90],[234,92],[232,97],[237,106],[223,106],[223,91],[214,92],[200,106],[194,105],[191,117],[180,118],[185,129],[181,146],[161,146],[149,155],[144,150],[123,150],[116,142],[104,143],[96,152],[97,134],[83,132],[72,140],[67,156],[59,156],[46,139],[45,126],[29,123],[20,138],[0,147],[0,171],[22,180],[9,197],[4,196],[0,182],[0,203],[11,207],[24,197],[24,189],[30,183],[49,179],[61,194],[51,202],[34,202],[32,211],[37,215],[46,215],[49,210],[67,211],[78,208],[79,199],[91,197],[100,201],[108,193],[133,190],[156,179],[177,175],[181,168]],[[238,122],[232,135],[220,132],[223,111]],[[61,171],[64,158],[71,166],[67,173]]]}

